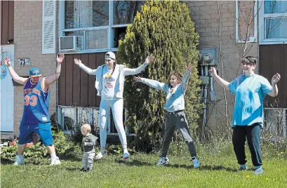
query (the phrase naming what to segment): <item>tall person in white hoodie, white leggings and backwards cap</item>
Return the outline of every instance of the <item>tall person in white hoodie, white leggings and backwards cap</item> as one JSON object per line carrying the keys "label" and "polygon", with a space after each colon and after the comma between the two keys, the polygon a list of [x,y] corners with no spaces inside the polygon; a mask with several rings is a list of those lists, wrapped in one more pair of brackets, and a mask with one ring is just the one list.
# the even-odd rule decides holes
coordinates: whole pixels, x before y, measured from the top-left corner
{"label": "tall person in white hoodie, white leggings and backwards cap", "polygon": [[116,130],[119,133],[119,139],[124,150],[123,159],[129,158],[128,147],[126,142],[126,133],[123,123],[123,93],[124,93],[124,78],[128,75],[139,74],[153,60],[152,55],[149,55],[145,62],[136,69],[129,69],[125,65],[116,64],[116,55],[112,52],[105,54],[105,64],[98,69],[90,69],[86,67],[81,60],[74,59],[74,63],[79,65],[88,74],[95,75],[95,88],[98,90],[100,101],[100,152],[95,156],[95,159],[101,159],[107,154],[105,149],[107,141],[107,119],[112,108],[112,115]]}

